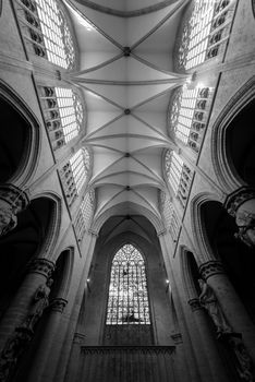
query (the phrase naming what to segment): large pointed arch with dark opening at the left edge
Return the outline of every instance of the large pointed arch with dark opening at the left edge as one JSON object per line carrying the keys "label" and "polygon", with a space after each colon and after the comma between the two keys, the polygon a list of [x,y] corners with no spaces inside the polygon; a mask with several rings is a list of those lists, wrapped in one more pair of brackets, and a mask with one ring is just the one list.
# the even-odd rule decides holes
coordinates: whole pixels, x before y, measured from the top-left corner
{"label": "large pointed arch with dark opening at the left edge", "polygon": [[0,181],[24,188],[38,164],[40,126],[20,95],[3,81],[0,81],[0,109],[2,120],[8,121],[8,129],[0,132]]}

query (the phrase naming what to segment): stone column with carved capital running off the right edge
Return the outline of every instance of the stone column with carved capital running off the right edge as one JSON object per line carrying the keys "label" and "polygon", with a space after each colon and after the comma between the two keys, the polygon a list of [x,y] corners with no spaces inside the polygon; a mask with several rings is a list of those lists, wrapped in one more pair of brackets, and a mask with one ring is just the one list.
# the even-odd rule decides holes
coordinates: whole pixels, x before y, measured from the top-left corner
{"label": "stone column with carved capital running off the right edge", "polygon": [[232,284],[224,274],[221,262],[215,260],[208,261],[199,266],[199,272],[203,279],[214,290],[232,331],[242,335],[243,343],[253,361],[255,361],[255,326],[250,320]]}

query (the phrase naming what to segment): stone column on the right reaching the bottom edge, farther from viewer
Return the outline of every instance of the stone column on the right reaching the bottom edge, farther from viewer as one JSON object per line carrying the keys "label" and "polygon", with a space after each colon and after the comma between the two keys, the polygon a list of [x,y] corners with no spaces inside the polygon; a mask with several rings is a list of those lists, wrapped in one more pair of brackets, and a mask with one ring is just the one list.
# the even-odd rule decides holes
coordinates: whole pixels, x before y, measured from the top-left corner
{"label": "stone column on the right reaching the bottom edge, farther from viewer", "polygon": [[211,330],[208,325],[207,317],[205,315],[204,309],[201,306],[198,298],[193,298],[187,301],[191,307],[194,321],[197,327],[197,336],[201,337],[201,344],[203,346],[203,350],[206,354],[206,358],[210,368],[210,374],[208,373],[208,378],[215,382],[223,382],[229,381],[227,370],[224,369],[220,355],[217,349],[216,341],[214,339]]}

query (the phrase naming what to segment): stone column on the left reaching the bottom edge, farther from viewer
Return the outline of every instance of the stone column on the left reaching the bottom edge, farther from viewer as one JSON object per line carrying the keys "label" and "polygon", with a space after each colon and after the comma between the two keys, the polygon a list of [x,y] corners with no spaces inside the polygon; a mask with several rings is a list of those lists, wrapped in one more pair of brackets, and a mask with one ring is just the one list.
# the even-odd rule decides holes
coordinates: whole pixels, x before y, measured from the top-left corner
{"label": "stone column on the left reaching the bottom edge, farther from viewer", "polygon": [[62,342],[59,341],[58,333],[66,303],[68,301],[60,297],[54,298],[50,302],[46,327],[42,329],[27,382],[48,381],[53,378],[52,372],[54,372],[56,356],[58,358],[62,347]]}

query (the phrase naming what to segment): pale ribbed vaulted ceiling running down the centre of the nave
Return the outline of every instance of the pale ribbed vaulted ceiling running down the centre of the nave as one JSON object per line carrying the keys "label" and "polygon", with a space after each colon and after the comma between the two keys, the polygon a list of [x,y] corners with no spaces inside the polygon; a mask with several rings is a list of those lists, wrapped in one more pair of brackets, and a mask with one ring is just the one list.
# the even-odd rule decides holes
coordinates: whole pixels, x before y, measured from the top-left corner
{"label": "pale ribbed vaulted ceiling running down the centre of the nave", "polygon": [[162,151],[177,150],[167,132],[168,105],[171,92],[189,77],[173,73],[172,52],[189,2],[65,1],[81,52],[80,69],[66,81],[86,100],[83,144],[94,153],[95,219],[104,213],[120,216],[118,232],[143,226],[138,215],[160,220]]}

